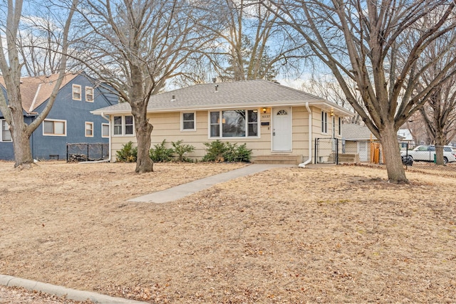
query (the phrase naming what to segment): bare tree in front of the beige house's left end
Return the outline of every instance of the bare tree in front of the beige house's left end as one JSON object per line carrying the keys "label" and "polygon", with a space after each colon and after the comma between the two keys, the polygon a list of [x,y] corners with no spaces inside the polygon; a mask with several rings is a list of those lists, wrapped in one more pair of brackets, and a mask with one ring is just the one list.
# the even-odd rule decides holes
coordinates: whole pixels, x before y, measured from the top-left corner
{"label": "bare tree in front of the beige house's left end", "polygon": [[[209,11],[198,1],[83,0],[78,59],[129,103],[138,142],[136,172],[153,171],[149,157],[152,125],[147,118],[151,95],[165,81],[182,75],[184,67],[204,48]],[[201,4],[203,5],[203,4]],[[207,26],[209,27],[209,26]]]}

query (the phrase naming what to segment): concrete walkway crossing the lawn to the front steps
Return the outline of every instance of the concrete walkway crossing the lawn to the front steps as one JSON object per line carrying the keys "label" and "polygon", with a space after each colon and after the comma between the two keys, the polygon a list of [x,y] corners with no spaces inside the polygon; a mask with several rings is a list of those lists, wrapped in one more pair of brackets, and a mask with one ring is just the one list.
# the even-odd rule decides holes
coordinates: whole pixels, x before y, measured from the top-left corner
{"label": "concrete walkway crossing the lawn to the front steps", "polygon": [[296,167],[294,164],[250,164],[247,167],[240,169],[234,169],[229,172],[224,172],[221,174],[212,175],[212,177],[205,177],[204,179],[197,179],[196,181],[189,182],[187,184],[181,184],[177,187],[172,187],[170,189],[162,190],[159,192],[154,192],[144,196],[137,197],[135,199],[130,199],[129,201],[133,202],[142,202],[142,203],[166,203],[168,201],[176,201],[177,199],[182,199],[183,197],[199,192],[203,189],[212,187],[214,184],[219,184],[221,182],[227,182],[230,179],[235,179],[237,177],[244,177],[250,174],[255,174],[261,171],[266,171],[272,168],[281,168],[281,167]]}

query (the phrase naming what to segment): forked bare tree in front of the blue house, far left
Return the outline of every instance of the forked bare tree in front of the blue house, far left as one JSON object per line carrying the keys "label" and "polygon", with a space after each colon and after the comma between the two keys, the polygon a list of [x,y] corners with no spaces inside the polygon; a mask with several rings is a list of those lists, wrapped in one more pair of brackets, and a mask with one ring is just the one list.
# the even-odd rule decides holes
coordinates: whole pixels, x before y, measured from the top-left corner
{"label": "forked bare tree in front of the blue house, far left", "polygon": [[[60,43],[53,44],[53,49],[48,51],[49,54],[63,53],[68,50],[68,32],[70,30],[71,19],[73,17],[74,7],[78,0],[73,0],[70,4],[70,9],[65,12],[68,13],[68,18],[62,24],[62,38]],[[30,136],[38,125],[43,122],[48,112],[51,110],[58,90],[60,89],[63,75],[66,70],[66,56],[61,56],[58,72],[59,77],[54,83],[53,92],[48,99],[46,107],[36,118],[27,125],[24,122],[24,110],[22,108],[21,100],[21,70],[26,58],[21,58],[18,46],[19,26],[21,24],[21,17],[23,11],[22,0],[8,0],[4,9],[0,10],[0,20],[6,21],[0,25],[1,36],[5,39],[0,39],[0,70],[6,88],[6,98],[3,93],[0,93],[0,110],[6,122],[9,125],[9,131],[13,140],[14,147],[14,167],[29,167],[33,164],[33,157],[30,147]],[[61,11],[61,13],[64,13]],[[60,29],[59,29],[60,31]],[[6,41],[6,45],[5,45]]]}

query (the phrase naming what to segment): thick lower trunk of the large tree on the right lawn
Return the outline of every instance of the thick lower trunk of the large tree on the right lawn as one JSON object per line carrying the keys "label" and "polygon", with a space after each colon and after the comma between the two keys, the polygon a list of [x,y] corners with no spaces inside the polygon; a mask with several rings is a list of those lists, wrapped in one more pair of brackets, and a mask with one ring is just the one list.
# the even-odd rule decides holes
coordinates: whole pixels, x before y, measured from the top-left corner
{"label": "thick lower trunk of the large tree on the right lawn", "polygon": [[400,157],[400,147],[398,144],[398,135],[395,132],[394,123],[386,125],[385,130],[380,132],[380,142],[383,147],[385,157],[386,171],[388,179],[398,183],[408,183],[405,177],[405,169]]}

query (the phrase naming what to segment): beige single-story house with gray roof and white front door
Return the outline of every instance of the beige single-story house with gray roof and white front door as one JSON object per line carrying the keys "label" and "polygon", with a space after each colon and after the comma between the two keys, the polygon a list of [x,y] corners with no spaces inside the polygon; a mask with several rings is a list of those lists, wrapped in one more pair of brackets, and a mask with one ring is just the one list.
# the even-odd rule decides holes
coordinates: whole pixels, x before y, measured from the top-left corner
{"label": "beige single-story house with gray roof and white front door", "polygon": [[[92,111],[110,117],[110,152],[136,142],[128,103]],[[207,83],[152,95],[147,117],[154,126],[152,146],[183,140],[201,159],[204,142],[246,144],[254,162],[311,162],[314,140],[341,138],[345,108],[301,90],[266,80]]]}

